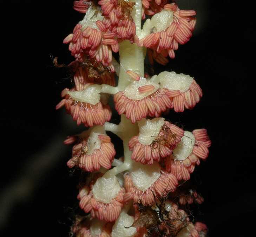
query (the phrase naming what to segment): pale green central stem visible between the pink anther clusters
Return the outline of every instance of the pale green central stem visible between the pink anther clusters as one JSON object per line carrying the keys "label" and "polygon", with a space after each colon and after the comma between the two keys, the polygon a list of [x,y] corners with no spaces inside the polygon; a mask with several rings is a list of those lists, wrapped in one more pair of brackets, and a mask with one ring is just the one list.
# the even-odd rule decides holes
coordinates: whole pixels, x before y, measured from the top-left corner
{"label": "pale green central stem visible between the pink anther clusters", "polygon": [[[136,35],[140,35],[141,31],[141,18],[142,18],[142,2],[141,0],[132,0],[136,3],[134,6],[136,11],[133,11],[133,19],[136,24]],[[123,41],[119,44],[120,55],[120,70],[118,89],[124,88],[132,82],[132,79],[126,73],[127,70],[134,71],[141,76],[144,76],[144,49],[137,46],[136,43],[131,44],[130,41]],[[132,152],[129,150],[130,139],[139,133],[138,124],[132,124],[130,119],[127,119],[124,114],[121,114],[121,121],[119,125],[105,123],[105,130],[117,134],[122,140],[124,145],[124,163],[107,171],[104,177],[117,175],[125,170],[131,169]]]}

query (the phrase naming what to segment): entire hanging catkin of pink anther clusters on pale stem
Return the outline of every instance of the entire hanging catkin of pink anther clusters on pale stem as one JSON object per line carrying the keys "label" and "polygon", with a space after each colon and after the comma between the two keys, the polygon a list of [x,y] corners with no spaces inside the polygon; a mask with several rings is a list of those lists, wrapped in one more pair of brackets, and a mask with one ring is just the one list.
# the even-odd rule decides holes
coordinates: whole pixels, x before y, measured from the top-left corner
{"label": "entire hanging catkin of pink anther clusters on pale stem", "polygon": [[[189,75],[144,72],[146,56],[152,66],[154,61],[164,65],[179,44],[189,41],[196,12],[180,10],[169,0],[77,0],[73,8],[85,14],[64,39],[75,58],[70,64],[75,86],[63,90],[56,108],[65,106],[78,125],[89,127],[64,143],[77,142],[68,167],[92,174],[78,194],[89,219],[78,219],[73,233],[204,236],[206,226],[194,225],[182,209],[193,197],[202,203],[202,196],[193,191],[186,198],[178,186],[207,158],[211,141],[205,129],[184,131],[162,117],[169,109],[193,109],[202,90]],[[142,26],[146,15],[150,19]],[[119,62],[112,52],[119,53]],[[119,124],[109,122],[109,96],[114,97]],[[106,131],[123,141],[123,157],[116,157],[117,147]],[[175,194],[180,195],[178,203]]]}

